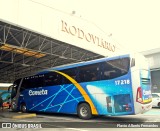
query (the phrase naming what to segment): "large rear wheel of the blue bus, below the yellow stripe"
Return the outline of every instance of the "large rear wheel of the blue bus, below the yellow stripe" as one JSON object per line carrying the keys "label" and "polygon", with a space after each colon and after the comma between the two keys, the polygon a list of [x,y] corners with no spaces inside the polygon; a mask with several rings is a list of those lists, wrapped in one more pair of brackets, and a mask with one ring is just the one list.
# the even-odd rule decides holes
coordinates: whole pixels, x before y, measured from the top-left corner
{"label": "large rear wheel of the blue bus, below the yellow stripe", "polygon": [[90,119],[92,117],[91,108],[87,103],[81,103],[78,106],[77,114],[81,119]]}

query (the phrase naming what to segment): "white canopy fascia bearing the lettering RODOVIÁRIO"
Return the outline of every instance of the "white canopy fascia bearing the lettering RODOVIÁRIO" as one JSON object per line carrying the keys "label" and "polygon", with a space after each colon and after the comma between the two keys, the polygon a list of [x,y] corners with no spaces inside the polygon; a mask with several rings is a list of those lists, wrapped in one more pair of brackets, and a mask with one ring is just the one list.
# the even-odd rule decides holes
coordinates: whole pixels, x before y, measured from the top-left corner
{"label": "white canopy fascia bearing the lettering RODOVI\u00c1RIO", "polygon": [[108,56],[121,50],[92,23],[30,0],[0,0],[0,19],[42,35]]}

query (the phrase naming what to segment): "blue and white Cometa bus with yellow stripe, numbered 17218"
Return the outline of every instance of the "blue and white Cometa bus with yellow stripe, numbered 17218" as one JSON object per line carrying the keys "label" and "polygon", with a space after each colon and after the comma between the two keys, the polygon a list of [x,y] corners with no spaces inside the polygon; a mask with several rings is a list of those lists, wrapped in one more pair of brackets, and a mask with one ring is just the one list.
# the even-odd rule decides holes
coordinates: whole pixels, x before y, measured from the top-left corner
{"label": "blue and white Cometa bus with yellow stripe, numbered 17218", "polygon": [[22,112],[130,115],[152,108],[150,70],[139,54],[43,70],[12,86],[12,109]]}

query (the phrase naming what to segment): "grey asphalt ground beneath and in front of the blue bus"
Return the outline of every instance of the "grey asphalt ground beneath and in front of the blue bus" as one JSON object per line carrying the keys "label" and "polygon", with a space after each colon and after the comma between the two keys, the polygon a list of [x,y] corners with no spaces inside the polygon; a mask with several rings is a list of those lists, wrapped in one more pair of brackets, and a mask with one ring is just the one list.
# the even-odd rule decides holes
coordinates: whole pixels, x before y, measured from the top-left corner
{"label": "grey asphalt ground beneath and in front of the blue bus", "polygon": [[[94,117],[91,120],[82,120],[79,119],[77,115],[66,115],[66,114],[55,114],[55,113],[21,113],[21,112],[12,112],[8,109],[0,111],[0,123],[2,122],[18,122],[18,123],[29,123],[29,124],[38,124],[39,127],[42,124],[42,128],[37,128],[39,130],[78,130],[78,131],[94,131],[94,130],[103,130],[109,128],[113,130],[113,127],[119,127],[123,130],[133,130],[140,123],[143,124],[160,124],[160,109],[153,108],[152,110],[146,112],[145,114],[139,115],[127,115],[127,116],[99,116]],[[130,123],[134,124],[133,128],[126,128],[126,125]],[[125,125],[124,125],[125,124]],[[118,128],[118,129],[119,129]],[[145,129],[145,131],[158,131],[158,128],[140,128],[140,130]],[[114,128],[117,130],[117,128]],[[0,129],[1,130],[1,129]],[[4,129],[3,129],[4,130]],[[23,130],[23,129],[18,129]]]}

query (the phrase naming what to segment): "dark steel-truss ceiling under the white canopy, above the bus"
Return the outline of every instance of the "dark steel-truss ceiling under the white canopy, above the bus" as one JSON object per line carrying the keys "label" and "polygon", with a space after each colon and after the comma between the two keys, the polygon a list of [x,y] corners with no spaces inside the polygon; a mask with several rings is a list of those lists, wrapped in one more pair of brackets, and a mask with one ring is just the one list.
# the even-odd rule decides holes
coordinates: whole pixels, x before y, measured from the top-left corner
{"label": "dark steel-truss ceiling under the white canopy, above the bus", "polygon": [[0,83],[12,83],[46,68],[102,57],[0,21]]}

